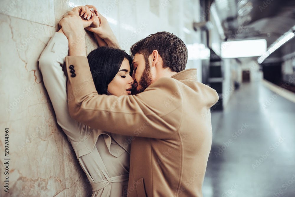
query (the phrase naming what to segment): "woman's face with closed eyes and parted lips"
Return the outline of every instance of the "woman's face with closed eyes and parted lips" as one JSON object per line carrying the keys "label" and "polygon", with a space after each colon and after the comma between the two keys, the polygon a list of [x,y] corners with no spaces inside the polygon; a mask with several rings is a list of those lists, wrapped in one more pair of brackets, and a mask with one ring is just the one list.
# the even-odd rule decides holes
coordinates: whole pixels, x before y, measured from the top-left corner
{"label": "woman's face with closed eyes and parted lips", "polygon": [[130,64],[129,61],[124,58],[118,73],[108,85],[108,95],[122,96],[131,94],[131,85],[134,83],[134,80],[129,73]]}

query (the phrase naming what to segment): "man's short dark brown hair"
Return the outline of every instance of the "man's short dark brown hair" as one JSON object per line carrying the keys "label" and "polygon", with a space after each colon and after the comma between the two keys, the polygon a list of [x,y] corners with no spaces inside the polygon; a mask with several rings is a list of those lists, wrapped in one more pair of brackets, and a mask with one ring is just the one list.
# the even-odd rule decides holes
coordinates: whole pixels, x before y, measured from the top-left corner
{"label": "man's short dark brown hair", "polygon": [[157,32],[133,44],[130,48],[132,56],[142,54],[145,61],[157,50],[163,59],[163,68],[173,72],[183,71],[187,62],[187,48],[183,41],[169,32]]}

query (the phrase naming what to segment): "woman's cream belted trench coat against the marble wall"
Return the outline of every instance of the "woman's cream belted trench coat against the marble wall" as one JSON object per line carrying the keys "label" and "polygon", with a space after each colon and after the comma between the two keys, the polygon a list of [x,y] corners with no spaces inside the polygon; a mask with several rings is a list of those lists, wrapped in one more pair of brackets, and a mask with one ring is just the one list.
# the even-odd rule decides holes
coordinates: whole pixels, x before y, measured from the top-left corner
{"label": "woman's cream belted trench coat against the marble wall", "polygon": [[66,77],[61,66],[66,55],[68,39],[65,35],[55,32],[38,60],[57,123],[68,136],[77,159],[92,185],[92,197],[122,196],[123,189],[128,185],[130,136],[92,128],[70,117]]}

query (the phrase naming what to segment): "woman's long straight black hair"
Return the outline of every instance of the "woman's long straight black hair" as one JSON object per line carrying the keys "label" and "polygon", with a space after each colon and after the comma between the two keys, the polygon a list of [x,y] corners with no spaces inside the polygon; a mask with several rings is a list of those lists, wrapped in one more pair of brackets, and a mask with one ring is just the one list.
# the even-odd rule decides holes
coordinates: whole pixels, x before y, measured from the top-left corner
{"label": "woman's long straight black hair", "polygon": [[118,48],[99,47],[87,56],[90,71],[96,91],[99,95],[106,95],[109,83],[118,73],[126,58],[130,64],[130,74],[133,73],[132,57]]}

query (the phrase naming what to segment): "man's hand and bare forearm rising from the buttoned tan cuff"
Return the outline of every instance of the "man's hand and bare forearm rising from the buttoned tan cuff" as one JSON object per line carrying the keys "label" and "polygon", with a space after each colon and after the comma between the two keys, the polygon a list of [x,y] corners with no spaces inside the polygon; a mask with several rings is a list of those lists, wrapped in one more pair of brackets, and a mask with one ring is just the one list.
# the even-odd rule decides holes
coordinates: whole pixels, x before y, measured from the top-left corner
{"label": "man's hand and bare forearm rising from the buttoned tan cuff", "polygon": [[59,25],[69,40],[69,56],[86,56],[85,30],[81,17],[73,11]]}

